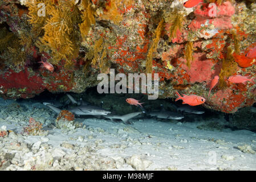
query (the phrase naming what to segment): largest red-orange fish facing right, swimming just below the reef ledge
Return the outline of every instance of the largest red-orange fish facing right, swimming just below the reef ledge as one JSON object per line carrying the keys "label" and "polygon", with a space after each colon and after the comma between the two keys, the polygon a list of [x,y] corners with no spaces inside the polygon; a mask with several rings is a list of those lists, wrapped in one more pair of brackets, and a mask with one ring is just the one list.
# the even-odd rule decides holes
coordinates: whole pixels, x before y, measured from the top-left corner
{"label": "largest red-orange fish facing right, swimming just below the reef ledge", "polygon": [[200,104],[204,104],[204,102],[205,102],[204,97],[200,97],[200,96],[196,96],[196,95],[187,96],[185,94],[182,94],[183,97],[181,97],[181,95],[177,91],[175,91],[175,92],[178,95],[178,98],[176,98],[175,101],[181,99],[183,101],[182,104],[188,104],[190,106],[197,106]]}

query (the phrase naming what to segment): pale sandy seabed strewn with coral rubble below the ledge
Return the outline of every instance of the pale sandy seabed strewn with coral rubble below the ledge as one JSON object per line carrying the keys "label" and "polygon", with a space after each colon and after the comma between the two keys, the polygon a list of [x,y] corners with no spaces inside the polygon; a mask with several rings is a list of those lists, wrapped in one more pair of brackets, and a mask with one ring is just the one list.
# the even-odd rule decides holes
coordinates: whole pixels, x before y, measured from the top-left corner
{"label": "pale sandy seabed strewn with coral rubble below the ledge", "polygon": [[[56,115],[40,102],[0,100],[0,170],[256,170],[256,134],[249,130],[200,130],[212,121],[132,125],[76,118],[83,128],[56,129]],[[43,123],[45,136],[23,136],[29,118]],[[216,123],[224,119],[215,119]]]}

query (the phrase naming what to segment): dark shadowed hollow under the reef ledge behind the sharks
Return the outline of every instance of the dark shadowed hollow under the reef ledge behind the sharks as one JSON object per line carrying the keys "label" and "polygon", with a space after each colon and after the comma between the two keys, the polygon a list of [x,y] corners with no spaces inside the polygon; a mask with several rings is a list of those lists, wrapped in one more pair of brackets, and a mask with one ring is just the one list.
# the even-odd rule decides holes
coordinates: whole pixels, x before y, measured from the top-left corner
{"label": "dark shadowed hollow under the reef ledge behind the sharks", "polygon": [[[148,100],[148,96],[144,94],[111,94],[111,93],[97,93],[97,87],[89,88],[86,92],[83,93],[51,93],[48,90],[36,95],[30,99],[17,99],[17,102],[23,101],[31,101],[31,102],[50,102],[59,106],[60,109],[64,110],[68,107],[72,107],[72,102],[67,97],[67,94],[70,94],[75,98],[76,101],[83,100],[86,101],[87,104],[99,106],[103,109],[111,111],[111,113],[124,115],[136,111],[141,111],[140,107],[129,105],[125,99],[126,98],[135,98],[140,102],[144,102],[143,108],[145,113],[140,115],[138,118],[151,118],[151,116],[147,115],[147,112],[150,111],[161,111],[168,110],[173,112],[178,112],[178,107],[184,106],[181,101],[173,101],[172,99],[157,99],[157,100]],[[187,105],[188,106],[188,105]],[[191,107],[191,106],[188,106]],[[202,106],[196,107],[199,110],[204,111],[203,114],[193,114],[193,113],[181,113],[184,115],[184,118],[180,120],[174,119],[162,119],[156,118],[157,121],[160,122],[197,122],[197,121],[212,121],[206,122],[206,124],[202,124],[198,126],[198,129],[202,130],[218,130],[222,131],[223,129],[230,130],[251,130],[256,131],[256,104],[251,107],[244,107],[239,109],[236,113],[228,114],[222,113],[220,111],[214,111],[210,109],[206,109]],[[57,115],[57,114],[56,114]],[[79,116],[82,118],[88,118],[93,116]],[[215,122],[214,119],[224,118],[225,122],[219,123]]]}

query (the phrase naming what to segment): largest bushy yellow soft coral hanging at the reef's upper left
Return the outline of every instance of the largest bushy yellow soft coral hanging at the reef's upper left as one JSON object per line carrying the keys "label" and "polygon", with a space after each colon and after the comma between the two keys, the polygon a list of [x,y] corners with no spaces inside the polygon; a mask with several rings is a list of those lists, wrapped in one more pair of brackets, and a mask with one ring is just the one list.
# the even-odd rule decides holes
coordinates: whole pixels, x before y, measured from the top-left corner
{"label": "largest bushy yellow soft coral hanging at the reef's upper left", "polygon": [[48,9],[50,18],[43,27],[44,36],[40,42],[51,49],[54,60],[66,59],[70,62],[79,52],[78,35],[74,30],[78,9],[72,1],[58,1],[58,6]]}

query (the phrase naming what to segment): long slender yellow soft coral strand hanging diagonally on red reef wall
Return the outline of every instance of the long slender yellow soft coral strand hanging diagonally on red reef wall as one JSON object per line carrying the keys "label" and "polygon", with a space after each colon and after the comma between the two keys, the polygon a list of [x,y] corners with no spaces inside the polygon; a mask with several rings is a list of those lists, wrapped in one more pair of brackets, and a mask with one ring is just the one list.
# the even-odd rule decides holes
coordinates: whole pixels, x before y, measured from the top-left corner
{"label": "long slender yellow soft coral strand hanging diagonally on red reef wall", "polygon": [[164,28],[164,19],[161,19],[159,25],[157,26],[155,30],[155,38],[153,39],[153,42],[151,44],[151,47],[148,50],[147,60],[146,60],[146,72],[151,73],[152,72],[152,61],[153,61],[153,53],[156,51],[162,29]]}

